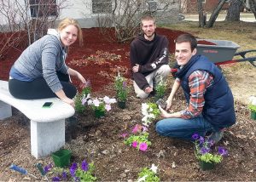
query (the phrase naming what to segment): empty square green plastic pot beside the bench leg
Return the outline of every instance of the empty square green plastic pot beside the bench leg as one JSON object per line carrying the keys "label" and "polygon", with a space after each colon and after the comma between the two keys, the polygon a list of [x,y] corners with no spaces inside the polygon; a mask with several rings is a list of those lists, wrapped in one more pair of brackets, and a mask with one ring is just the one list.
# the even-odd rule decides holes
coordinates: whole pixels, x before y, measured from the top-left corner
{"label": "empty square green plastic pot beside the bench leg", "polygon": [[63,168],[65,166],[69,166],[70,164],[71,151],[61,149],[52,153],[51,157],[55,162],[55,167]]}

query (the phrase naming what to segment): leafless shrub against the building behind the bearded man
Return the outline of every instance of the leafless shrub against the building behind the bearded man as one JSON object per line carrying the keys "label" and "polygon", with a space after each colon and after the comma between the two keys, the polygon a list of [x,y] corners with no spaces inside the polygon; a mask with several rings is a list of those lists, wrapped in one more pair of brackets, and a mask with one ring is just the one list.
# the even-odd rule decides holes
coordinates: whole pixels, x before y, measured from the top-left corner
{"label": "leafless shrub against the building behind the bearded man", "polygon": [[98,14],[98,26],[102,31],[106,32],[106,28],[113,27],[114,38],[119,43],[123,43],[131,40],[140,31],[140,19],[144,14],[153,15],[157,22],[160,20],[166,22],[174,17],[178,19],[179,2],[177,0],[105,0],[97,4],[93,3],[92,12]]}

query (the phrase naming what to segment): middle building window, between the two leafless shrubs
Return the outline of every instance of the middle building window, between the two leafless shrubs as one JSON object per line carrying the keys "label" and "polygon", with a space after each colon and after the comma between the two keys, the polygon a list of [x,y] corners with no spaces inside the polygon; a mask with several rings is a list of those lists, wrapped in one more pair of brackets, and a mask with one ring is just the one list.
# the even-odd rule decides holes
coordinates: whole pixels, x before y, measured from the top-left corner
{"label": "middle building window, between the two leafless shrubs", "polygon": [[112,12],[111,0],[92,0],[93,14],[110,14]]}

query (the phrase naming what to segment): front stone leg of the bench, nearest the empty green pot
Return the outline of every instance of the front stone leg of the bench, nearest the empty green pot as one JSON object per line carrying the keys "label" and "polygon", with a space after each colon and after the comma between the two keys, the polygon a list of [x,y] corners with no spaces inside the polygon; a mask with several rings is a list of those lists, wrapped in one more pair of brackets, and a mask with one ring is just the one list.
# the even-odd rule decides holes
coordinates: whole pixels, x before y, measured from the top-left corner
{"label": "front stone leg of the bench, nearest the empty green pot", "polygon": [[49,156],[65,145],[65,120],[55,122],[31,121],[31,153],[37,159]]}

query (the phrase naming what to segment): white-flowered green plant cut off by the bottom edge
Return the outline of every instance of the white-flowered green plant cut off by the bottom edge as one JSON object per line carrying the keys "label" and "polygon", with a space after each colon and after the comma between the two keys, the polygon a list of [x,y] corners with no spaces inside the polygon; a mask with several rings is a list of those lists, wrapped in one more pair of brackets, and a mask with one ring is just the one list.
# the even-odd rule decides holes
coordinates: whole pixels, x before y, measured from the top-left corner
{"label": "white-flowered green plant cut off by the bottom edge", "polygon": [[151,168],[143,168],[140,173],[138,173],[137,182],[160,182],[160,178],[157,176],[157,167],[152,164]]}

